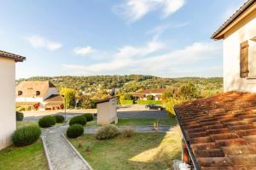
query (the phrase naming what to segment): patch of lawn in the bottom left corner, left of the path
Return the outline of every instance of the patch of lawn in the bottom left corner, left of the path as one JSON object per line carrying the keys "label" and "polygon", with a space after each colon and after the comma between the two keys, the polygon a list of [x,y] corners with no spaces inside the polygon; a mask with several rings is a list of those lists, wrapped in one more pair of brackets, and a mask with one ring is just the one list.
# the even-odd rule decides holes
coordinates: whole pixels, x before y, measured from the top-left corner
{"label": "patch of lawn in the bottom left corner, left of the path", "polygon": [[10,146],[0,150],[0,170],[47,170],[43,144],[40,140],[26,147]]}

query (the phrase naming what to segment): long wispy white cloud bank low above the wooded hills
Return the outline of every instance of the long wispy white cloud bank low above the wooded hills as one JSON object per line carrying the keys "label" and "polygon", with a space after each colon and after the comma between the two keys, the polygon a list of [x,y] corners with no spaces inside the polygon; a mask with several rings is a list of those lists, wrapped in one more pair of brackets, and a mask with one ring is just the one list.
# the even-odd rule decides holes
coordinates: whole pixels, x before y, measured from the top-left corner
{"label": "long wispy white cloud bank low above the wooded hills", "polygon": [[65,64],[62,66],[80,75],[136,73],[163,77],[175,77],[177,74],[178,76],[188,76],[188,72],[183,74],[184,71],[194,67],[197,70],[196,72],[191,71],[191,74],[205,76],[207,72],[204,72],[206,69],[203,68],[203,62],[207,61],[208,63],[209,60],[221,56],[221,47],[217,42],[195,42],[185,48],[166,54],[154,54],[163,48],[160,44],[161,42],[148,42],[144,47],[139,48],[126,46],[120,48],[114,54],[113,59],[106,62],[92,65]]}

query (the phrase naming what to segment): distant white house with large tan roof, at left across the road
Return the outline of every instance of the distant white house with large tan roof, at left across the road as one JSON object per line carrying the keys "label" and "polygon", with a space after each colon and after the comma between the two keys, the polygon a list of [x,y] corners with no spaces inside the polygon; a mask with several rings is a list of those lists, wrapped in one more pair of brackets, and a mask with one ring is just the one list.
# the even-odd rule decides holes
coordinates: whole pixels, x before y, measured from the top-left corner
{"label": "distant white house with large tan roof, at left across the road", "polygon": [[39,111],[59,110],[63,109],[63,99],[52,82],[20,82],[16,87],[16,107]]}

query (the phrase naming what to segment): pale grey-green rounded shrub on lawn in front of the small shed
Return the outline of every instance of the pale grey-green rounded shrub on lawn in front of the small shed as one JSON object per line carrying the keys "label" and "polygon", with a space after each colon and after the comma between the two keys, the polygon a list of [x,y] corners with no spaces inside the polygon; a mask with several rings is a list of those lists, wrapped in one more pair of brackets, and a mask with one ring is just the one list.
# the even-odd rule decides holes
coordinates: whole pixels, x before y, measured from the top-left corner
{"label": "pale grey-green rounded shrub on lawn in front of the small shed", "polygon": [[119,135],[119,129],[118,127],[114,125],[106,125],[104,127],[101,127],[96,131],[96,139],[111,139],[115,136]]}

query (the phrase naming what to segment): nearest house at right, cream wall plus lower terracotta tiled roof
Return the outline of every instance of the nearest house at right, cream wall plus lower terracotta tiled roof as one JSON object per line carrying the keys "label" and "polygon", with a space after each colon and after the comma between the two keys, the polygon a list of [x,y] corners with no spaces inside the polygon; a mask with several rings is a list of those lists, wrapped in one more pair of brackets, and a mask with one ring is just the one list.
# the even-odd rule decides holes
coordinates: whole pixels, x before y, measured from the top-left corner
{"label": "nearest house at right, cream wall plus lower terracotta tiled roof", "polygon": [[212,35],[224,40],[224,94],[175,106],[183,162],[191,169],[256,167],[256,1]]}

